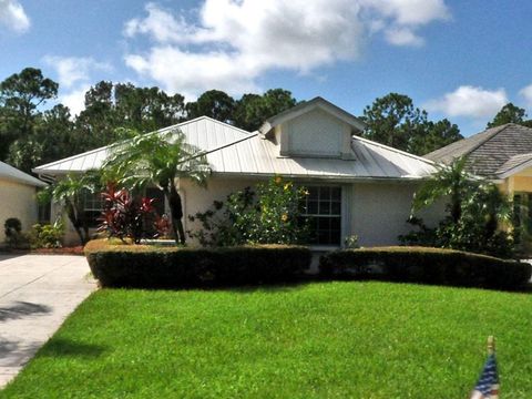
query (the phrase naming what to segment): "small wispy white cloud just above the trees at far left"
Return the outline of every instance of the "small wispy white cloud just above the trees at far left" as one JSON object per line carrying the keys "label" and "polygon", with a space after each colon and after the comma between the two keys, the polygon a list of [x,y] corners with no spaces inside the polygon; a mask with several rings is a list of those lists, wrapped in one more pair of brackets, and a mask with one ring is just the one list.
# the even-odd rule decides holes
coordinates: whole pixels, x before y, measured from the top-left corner
{"label": "small wispy white cloud just above the trees at far left", "polygon": [[85,92],[93,82],[94,72],[110,72],[112,66],[89,57],[45,55],[42,61],[53,68],[59,81],[59,102],[66,105],[72,115],[84,109]]}

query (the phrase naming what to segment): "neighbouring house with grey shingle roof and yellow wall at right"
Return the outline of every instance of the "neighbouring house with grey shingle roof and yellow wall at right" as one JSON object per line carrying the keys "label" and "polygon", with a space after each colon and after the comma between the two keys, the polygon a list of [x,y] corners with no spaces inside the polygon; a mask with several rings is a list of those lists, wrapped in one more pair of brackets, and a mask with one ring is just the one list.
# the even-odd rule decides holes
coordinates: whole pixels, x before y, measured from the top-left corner
{"label": "neighbouring house with grey shingle roof and yellow wall at right", "polygon": [[524,205],[515,206],[518,223],[532,235],[532,129],[508,123],[424,155],[442,164],[462,156],[470,172],[495,183],[515,205]]}

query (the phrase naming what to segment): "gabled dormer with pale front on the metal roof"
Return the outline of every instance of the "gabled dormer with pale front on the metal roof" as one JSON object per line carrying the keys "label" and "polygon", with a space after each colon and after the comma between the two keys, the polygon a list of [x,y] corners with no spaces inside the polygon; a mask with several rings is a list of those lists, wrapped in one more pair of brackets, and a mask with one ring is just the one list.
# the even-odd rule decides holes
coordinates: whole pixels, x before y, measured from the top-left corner
{"label": "gabled dormer with pale front on the metal roof", "polygon": [[277,145],[278,156],[352,160],[351,136],[364,129],[350,113],[316,98],[268,119],[259,133]]}

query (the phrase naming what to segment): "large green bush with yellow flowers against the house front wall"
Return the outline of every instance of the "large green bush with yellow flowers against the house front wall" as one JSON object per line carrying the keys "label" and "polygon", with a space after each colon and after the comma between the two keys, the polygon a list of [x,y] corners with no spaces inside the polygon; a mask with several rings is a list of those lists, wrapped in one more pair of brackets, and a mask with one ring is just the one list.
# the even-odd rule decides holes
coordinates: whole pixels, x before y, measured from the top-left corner
{"label": "large green bush with yellow flowers against the house front wall", "polygon": [[305,188],[274,176],[255,191],[246,187],[229,194],[225,203],[215,201],[213,208],[190,215],[202,228],[188,235],[204,246],[304,243],[308,233],[301,217]]}

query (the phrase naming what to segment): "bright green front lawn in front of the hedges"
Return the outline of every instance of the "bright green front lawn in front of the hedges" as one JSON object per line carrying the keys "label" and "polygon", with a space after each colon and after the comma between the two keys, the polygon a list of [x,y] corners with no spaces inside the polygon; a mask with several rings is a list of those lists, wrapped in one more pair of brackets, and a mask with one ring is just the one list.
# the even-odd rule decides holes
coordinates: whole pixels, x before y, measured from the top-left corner
{"label": "bright green front lawn in front of the hedges", "polygon": [[495,335],[530,398],[532,296],[385,283],[104,289],[2,398],[467,398]]}

